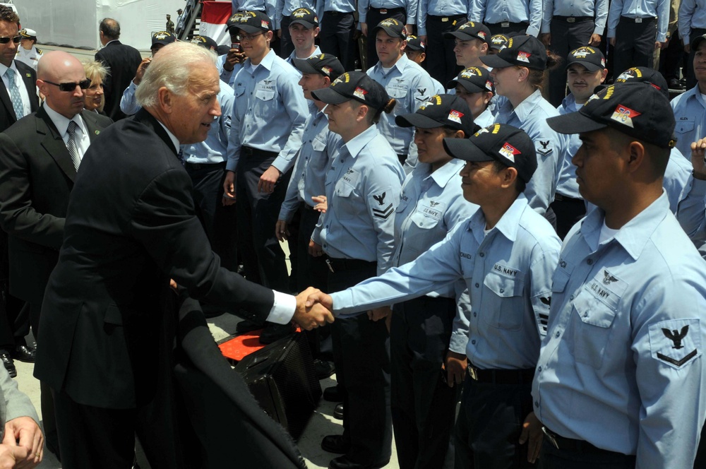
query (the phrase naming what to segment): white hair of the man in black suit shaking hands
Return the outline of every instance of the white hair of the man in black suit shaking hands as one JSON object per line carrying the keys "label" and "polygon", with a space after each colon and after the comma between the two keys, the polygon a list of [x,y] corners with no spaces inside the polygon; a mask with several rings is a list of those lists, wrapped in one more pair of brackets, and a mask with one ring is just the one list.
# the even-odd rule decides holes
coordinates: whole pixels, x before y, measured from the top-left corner
{"label": "white hair of the man in black suit shaking hands", "polygon": [[155,107],[159,102],[157,93],[162,87],[175,95],[185,95],[193,66],[204,62],[215,66],[215,52],[191,42],[167,44],[152,59],[135,97],[142,107]]}

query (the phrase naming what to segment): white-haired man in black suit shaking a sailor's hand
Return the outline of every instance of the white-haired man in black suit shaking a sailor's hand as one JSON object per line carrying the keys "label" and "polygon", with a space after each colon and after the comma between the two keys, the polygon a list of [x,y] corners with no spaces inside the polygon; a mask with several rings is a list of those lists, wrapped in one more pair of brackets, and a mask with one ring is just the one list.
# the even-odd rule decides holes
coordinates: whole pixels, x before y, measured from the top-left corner
{"label": "white-haired man in black suit shaking a sailor's hand", "polygon": [[[177,149],[205,139],[220,114],[218,89],[213,53],[169,44],[140,83],[143,109],[103,131],[81,162],[44,293],[35,364],[35,376],[54,391],[68,468],[130,468],[136,431],[162,431],[155,420],[147,427],[138,420],[162,398],[157,339],[173,327],[160,313],[170,278],[194,299],[244,307],[262,321],[293,318],[304,328],[333,321],[306,312],[306,292],[294,298],[250,283],[220,268],[210,250]],[[250,451],[258,449],[251,441]]]}

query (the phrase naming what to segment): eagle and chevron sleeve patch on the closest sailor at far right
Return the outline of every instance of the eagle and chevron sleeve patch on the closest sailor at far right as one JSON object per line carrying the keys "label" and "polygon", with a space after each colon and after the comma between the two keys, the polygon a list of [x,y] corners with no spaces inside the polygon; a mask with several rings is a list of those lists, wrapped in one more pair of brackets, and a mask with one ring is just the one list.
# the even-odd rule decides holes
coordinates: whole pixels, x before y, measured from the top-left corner
{"label": "eagle and chevron sleeve patch on the closest sailor at far right", "polygon": [[671,319],[650,324],[650,355],[675,369],[683,369],[702,353],[698,319]]}

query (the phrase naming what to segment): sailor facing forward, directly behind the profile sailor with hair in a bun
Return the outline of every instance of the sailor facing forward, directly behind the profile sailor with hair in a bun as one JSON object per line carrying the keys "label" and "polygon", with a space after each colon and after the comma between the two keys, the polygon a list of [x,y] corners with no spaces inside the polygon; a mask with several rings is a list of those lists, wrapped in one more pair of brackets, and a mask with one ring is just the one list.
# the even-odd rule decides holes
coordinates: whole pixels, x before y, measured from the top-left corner
{"label": "sailor facing forward, directly behind the profile sailor with hair in a bun", "polygon": [[368,76],[385,87],[388,95],[395,98],[393,114],[382,117],[378,129],[405,162],[407,155],[416,159],[416,150],[410,149],[412,129],[401,129],[395,124],[395,117],[414,112],[433,95],[434,85],[426,70],[407,59],[407,33],[405,25],[394,18],[381,21],[371,30],[375,37],[380,61],[368,69]]}

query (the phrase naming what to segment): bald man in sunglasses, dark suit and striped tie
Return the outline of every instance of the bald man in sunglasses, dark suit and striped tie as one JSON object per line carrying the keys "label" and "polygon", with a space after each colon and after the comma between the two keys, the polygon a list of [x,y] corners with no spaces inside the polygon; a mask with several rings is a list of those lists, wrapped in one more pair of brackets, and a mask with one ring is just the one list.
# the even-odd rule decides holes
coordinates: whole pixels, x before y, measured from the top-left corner
{"label": "bald man in sunglasses, dark suit and striped tie", "polygon": [[[44,288],[64,242],[68,195],[80,158],[112,124],[108,117],[83,110],[82,87],[88,83],[83,65],[70,54],[45,54],[37,78],[44,105],[0,133],[0,225],[9,238],[10,292],[30,305],[35,336]],[[56,453],[53,410],[51,391],[42,383],[44,431],[47,446]]]}

